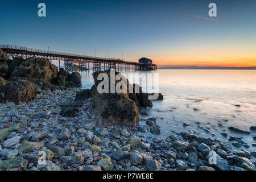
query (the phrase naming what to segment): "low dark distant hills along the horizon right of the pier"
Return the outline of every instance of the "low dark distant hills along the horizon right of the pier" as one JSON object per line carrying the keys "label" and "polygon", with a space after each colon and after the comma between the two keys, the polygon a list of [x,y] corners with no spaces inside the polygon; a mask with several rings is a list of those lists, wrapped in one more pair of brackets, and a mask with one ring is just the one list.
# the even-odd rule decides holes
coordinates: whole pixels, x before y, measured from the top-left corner
{"label": "low dark distant hills along the horizon right of the pier", "polygon": [[256,67],[196,67],[196,66],[170,66],[170,67],[158,67],[158,69],[249,69],[256,70]]}

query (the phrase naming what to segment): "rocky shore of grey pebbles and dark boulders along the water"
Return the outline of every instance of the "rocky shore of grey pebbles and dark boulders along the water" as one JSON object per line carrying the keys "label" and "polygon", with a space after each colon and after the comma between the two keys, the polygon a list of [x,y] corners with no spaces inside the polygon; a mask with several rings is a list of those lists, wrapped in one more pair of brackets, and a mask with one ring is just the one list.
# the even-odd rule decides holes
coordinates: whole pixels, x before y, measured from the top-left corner
{"label": "rocky shore of grey pebbles and dark boulders along the water", "polygon": [[161,139],[159,118],[139,118],[143,107],[152,107],[142,90],[100,95],[97,72],[92,89],[82,90],[79,73],[58,72],[48,60],[34,67],[38,59],[12,68],[14,60],[1,56],[0,170],[255,171],[256,151],[232,150],[233,143],[245,145],[242,138],[222,142],[181,132]]}

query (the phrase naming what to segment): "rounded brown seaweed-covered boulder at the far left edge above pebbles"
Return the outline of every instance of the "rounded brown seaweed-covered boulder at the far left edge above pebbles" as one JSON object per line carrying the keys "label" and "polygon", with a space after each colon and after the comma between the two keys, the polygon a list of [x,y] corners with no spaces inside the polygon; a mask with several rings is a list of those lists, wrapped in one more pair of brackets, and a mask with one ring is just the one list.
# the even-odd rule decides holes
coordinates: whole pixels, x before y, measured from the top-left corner
{"label": "rounded brown seaweed-covered boulder at the far left edge above pebbles", "polygon": [[7,82],[2,96],[5,101],[13,101],[15,104],[28,102],[35,97],[35,85],[28,80]]}

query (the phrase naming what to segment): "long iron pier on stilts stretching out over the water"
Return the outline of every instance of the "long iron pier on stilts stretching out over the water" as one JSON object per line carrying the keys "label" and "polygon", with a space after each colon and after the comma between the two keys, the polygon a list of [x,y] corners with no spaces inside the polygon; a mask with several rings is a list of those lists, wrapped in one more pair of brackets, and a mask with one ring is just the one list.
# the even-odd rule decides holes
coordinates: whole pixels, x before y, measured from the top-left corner
{"label": "long iron pier on stilts stretching out over the water", "polygon": [[114,58],[77,55],[11,45],[0,45],[0,48],[9,57],[23,57],[25,59],[28,57],[42,57],[51,62],[52,60],[57,60],[59,68],[60,62],[64,61],[64,69],[67,71],[89,71],[89,64],[92,64],[92,71],[105,71],[108,69],[114,69],[115,71],[157,70],[156,64],[144,64]]}

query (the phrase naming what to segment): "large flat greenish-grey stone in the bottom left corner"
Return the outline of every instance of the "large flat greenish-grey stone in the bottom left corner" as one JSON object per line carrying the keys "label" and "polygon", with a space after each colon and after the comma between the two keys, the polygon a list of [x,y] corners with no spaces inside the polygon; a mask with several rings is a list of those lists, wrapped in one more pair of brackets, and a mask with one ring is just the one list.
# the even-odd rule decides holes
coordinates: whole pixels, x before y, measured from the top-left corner
{"label": "large flat greenish-grey stone in the bottom left corner", "polygon": [[27,160],[22,157],[10,158],[8,160],[3,160],[2,166],[5,169],[18,168],[20,170],[25,170],[27,168]]}

